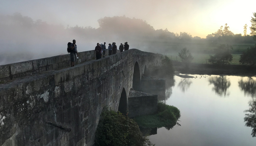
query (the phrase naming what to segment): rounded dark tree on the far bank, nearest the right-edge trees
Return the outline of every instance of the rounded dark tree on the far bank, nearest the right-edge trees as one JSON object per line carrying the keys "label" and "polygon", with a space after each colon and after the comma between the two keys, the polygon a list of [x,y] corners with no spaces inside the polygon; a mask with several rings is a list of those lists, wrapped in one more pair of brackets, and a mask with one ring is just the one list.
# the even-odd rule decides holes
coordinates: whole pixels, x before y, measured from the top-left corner
{"label": "rounded dark tree on the far bank, nearest the right-edge trees", "polygon": [[229,64],[233,60],[230,49],[233,50],[231,45],[219,45],[217,49],[214,49],[214,56],[210,55],[210,59],[208,59],[208,61],[212,64]]}

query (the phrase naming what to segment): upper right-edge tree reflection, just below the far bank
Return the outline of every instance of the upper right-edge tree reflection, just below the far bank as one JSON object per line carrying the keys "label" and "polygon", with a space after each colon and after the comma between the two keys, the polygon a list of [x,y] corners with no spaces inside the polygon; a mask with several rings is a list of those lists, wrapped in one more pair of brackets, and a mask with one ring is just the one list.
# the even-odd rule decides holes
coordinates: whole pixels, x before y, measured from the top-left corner
{"label": "upper right-edge tree reflection, just below the far bank", "polygon": [[251,77],[249,77],[247,81],[243,81],[242,78],[238,81],[238,86],[242,91],[244,91],[245,95],[248,94],[252,98],[256,96],[256,81]]}

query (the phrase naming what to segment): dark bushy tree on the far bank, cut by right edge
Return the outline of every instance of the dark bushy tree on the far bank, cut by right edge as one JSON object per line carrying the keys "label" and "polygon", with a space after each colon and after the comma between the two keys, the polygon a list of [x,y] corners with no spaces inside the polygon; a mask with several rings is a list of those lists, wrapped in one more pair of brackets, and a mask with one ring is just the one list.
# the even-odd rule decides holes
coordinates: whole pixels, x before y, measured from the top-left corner
{"label": "dark bushy tree on the far bank, cut by right edge", "polygon": [[247,48],[247,50],[240,55],[239,63],[253,66],[256,64],[255,56],[256,46]]}

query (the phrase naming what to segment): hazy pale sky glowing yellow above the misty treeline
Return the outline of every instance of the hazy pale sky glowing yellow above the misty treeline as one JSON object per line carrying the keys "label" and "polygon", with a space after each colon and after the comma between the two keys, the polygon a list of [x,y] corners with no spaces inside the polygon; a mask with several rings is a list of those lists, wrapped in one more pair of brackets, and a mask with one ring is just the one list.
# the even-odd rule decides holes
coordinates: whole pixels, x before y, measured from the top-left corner
{"label": "hazy pale sky glowing yellow above the misty treeline", "polygon": [[48,24],[91,26],[97,20],[126,15],[145,20],[155,29],[188,32],[205,38],[228,23],[230,31],[242,33],[256,12],[256,0],[1,0],[0,14],[20,12]]}

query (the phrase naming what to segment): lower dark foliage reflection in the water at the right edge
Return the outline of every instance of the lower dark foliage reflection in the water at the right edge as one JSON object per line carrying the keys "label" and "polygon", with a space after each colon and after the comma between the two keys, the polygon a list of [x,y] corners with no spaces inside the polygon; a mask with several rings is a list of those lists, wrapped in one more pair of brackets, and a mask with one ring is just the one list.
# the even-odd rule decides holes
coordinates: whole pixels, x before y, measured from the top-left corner
{"label": "lower dark foliage reflection in the water at the right edge", "polygon": [[244,121],[245,126],[252,128],[252,137],[256,137],[256,101],[252,100],[249,102],[250,108],[245,110],[245,112],[250,112],[245,114]]}

